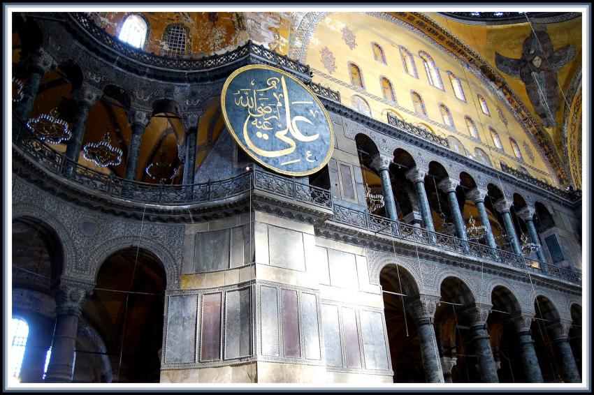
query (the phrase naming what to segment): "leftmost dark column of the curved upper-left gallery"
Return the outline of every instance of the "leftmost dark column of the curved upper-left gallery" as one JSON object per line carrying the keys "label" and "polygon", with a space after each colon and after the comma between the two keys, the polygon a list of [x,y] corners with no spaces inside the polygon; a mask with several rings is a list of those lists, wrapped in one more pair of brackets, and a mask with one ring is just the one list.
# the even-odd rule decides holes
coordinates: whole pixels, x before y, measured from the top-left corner
{"label": "leftmost dark column of the curved upper-left gallery", "polygon": [[29,72],[29,76],[27,82],[23,84],[22,99],[15,105],[14,110],[15,115],[21,121],[27,122],[27,119],[31,116],[41,78],[45,73],[48,73],[53,62],[51,55],[41,48],[24,55],[23,63]]}

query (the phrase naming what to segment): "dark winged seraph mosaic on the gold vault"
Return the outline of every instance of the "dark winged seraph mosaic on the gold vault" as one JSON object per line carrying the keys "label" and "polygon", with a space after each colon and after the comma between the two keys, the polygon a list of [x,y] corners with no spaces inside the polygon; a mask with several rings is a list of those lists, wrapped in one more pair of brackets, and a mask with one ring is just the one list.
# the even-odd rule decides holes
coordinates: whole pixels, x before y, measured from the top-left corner
{"label": "dark winged seraph mosaic on the gold vault", "polygon": [[512,59],[495,52],[495,65],[502,72],[520,77],[536,114],[546,128],[556,126],[559,89],[556,73],[575,57],[575,47],[565,45],[553,49],[544,25],[535,25],[522,43],[521,59]]}

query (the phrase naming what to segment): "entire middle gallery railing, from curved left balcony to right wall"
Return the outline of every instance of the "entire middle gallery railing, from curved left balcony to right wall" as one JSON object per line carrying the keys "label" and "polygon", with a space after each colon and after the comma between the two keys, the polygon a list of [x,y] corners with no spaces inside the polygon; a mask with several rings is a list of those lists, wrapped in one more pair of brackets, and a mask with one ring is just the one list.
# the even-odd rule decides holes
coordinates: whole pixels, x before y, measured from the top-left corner
{"label": "entire middle gallery railing, from curved left balcony to right wall", "polygon": [[407,223],[392,221],[366,211],[357,211],[333,204],[330,191],[302,184],[295,179],[273,174],[260,169],[249,170],[235,177],[202,184],[166,185],[130,181],[103,174],[89,167],[75,163],[63,153],[55,151],[50,145],[36,137],[27,126],[13,117],[13,146],[20,149],[30,161],[59,177],[64,177],[94,193],[102,193],[112,198],[121,198],[147,204],[199,204],[217,202],[233,198],[250,190],[263,191],[272,195],[296,200],[322,209],[333,211],[331,220],[376,234],[394,237],[416,244],[435,246],[444,251],[470,255],[477,258],[500,262],[519,269],[560,278],[571,283],[581,284],[581,274],[539,262],[538,267],[527,264],[526,258],[498,248],[490,248],[472,241],[438,232],[429,232]]}

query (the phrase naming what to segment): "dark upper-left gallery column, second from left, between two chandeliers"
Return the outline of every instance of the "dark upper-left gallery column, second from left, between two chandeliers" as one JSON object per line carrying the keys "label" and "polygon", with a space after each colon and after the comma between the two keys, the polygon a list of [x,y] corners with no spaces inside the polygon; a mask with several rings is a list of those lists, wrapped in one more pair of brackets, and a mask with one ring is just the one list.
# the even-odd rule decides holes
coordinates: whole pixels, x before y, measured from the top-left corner
{"label": "dark upper-left gallery column, second from left, between two chandeliers", "polygon": [[[73,94],[73,99],[76,102],[76,110],[74,119],[72,121],[71,137],[66,144],[66,158],[74,163],[78,163],[78,157],[82,150],[82,140],[85,138],[85,128],[87,127],[87,118],[94,103],[101,97],[103,92],[89,84],[82,84],[82,87],[77,89]],[[67,175],[72,175],[74,167],[66,165],[64,172]]]}

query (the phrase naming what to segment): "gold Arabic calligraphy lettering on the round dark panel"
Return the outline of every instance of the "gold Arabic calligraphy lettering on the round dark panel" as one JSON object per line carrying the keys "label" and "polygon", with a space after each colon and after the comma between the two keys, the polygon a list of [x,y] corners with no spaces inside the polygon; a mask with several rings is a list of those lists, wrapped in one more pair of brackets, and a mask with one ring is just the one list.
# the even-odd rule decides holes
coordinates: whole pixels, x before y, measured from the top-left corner
{"label": "gold Arabic calligraphy lettering on the round dark panel", "polygon": [[[280,84],[280,87],[279,87]],[[252,80],[250,85],[254,87],[255,82]],[[312,101],[294,101],[289,100],[289,94],[287,92],[287,83],[284,80],[284,76],[270,77],[266,80],[266,88],[263,89],[240,89],[234,94],[235,104],[244,108],[247,108],[247,118],[243,124],[243,137],[249,149],[252,149],[256,154],[265,156],[266,158],[276,158],[278,156],[285,156],[292,154],[297,144],[295,140],[300,142],[312,142],[319,138],[319,133],[314,135],[304,135],[301,133],[298,127],[298,122],[305,122],[306,124],[312,125],[312,121],[307,117],[296,115],[291,117],[291,105],[300,104],[313,104]],[[278,91],[280,89],[280,92]],[[272,98],[270,97],[272,94]],[[284,119],[282,117],[282,108],[284,107]],[[316,112],[310,113],[315,117]],[[249,125],[256,128],[256,137],[263,140],[268,140],[269,133],[274,133],[275,137],[282,142],[289,144],[289,147],[285,149],[277,149],[275,151],[267,151],[256,147],[256,144],[249,137]],[[284,125],[284,126],[283,126]],[[275,131],[275,132],[273,132]],[[287,133],[292,136],[289,137]],[[310,159],[311,153],[307,151],[308,162],[312,162]],[[300,159],[288,161],[282,164],[295,163]]]}

